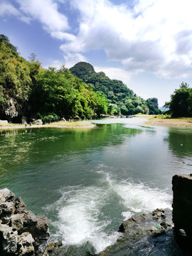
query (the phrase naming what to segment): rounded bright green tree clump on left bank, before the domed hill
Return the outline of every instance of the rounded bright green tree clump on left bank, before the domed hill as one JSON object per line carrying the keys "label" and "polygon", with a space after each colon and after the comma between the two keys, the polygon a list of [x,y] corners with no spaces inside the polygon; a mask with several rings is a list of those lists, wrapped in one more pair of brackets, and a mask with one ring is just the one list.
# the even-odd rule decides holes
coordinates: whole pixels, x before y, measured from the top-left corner
{"label": "rounded bright green tree clump on left bank, before the domed hill", "polygon": [[95,114],[107,114],[104,95],[93,92],[67,69],[42,70],[33,87],[31,101],[41,115],[55,113],[59,117],[90,119]]}

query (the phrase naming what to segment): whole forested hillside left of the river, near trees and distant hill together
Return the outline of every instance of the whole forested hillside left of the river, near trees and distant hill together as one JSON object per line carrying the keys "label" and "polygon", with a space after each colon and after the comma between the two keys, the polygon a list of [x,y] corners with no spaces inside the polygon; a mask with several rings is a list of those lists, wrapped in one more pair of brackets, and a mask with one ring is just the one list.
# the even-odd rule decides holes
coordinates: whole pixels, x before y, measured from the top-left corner
{"label": "whole forested hillside left of the river, near trees and distant hill together", "polygon": [[92,119],[101,114],[159,114],[158,100],[142,99],[122,81],[95,73],[89,63],[68,70],[44,69],[32,53],[22,58],[9,38],[0,35],[0,119],[22,117],[43,122]]}

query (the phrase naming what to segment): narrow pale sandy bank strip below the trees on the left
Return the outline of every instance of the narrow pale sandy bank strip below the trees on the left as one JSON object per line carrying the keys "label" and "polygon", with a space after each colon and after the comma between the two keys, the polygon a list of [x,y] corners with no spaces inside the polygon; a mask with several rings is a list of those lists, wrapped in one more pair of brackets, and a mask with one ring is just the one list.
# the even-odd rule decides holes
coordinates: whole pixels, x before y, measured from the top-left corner
{"label": "narrow pale sandy bank strip below the trees on the left", "polygon": [[50,124],[0,124],[0,129],[31,129],[31,128],[93,128],[95,124],[88,121],[77,121],[77,122],[53,122]]}

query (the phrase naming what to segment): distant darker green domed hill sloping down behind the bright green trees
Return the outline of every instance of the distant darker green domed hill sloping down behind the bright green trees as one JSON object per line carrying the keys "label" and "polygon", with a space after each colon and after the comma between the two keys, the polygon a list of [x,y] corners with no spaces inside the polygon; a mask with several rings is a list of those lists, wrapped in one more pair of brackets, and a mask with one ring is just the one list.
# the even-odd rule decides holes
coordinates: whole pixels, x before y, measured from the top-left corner
{"label": "distant darker green domed hill sloping down behind the bright green trees", "polygon": [[89,63],[77,63],[70,68],[70,72],[91,85],[93,90],[102,92],[112,105],[117,106],[115,114],[117,112],[124,115],[161,113],[155,97],[148,100],[138,97],[122,81],[111,80],[103,72],[96,73]]}

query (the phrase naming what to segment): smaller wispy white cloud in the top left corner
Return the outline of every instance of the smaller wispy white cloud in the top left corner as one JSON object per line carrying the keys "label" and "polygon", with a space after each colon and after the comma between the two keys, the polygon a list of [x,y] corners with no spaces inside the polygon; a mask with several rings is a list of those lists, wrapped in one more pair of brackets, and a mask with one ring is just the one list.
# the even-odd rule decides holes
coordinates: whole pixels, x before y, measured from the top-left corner
{"label": "smaller wispy white cloud in the top left corner", "polygon": [[15,0],[15,2],[19,8],[9,0],[0,4],[0,16],[16,16],[26,23],[36,20],[53,38],[66,41],[75,39],[73,34],[66,32],[70,29],[68,17],[58,11],[58,4],[63,4],[63,0]]}

